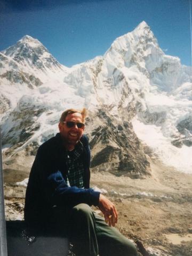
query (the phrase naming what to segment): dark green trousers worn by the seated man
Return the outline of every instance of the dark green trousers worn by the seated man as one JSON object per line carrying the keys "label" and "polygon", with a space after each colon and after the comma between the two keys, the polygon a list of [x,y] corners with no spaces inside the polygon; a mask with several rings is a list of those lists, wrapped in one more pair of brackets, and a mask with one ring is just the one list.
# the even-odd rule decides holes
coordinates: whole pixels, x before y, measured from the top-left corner
{"label": "dark green trousers worn by the seated man", "polygon": [[79,256],[137,256],[137,249],[114,227],[92,211],[87,204],[71,210],[69,235]]}

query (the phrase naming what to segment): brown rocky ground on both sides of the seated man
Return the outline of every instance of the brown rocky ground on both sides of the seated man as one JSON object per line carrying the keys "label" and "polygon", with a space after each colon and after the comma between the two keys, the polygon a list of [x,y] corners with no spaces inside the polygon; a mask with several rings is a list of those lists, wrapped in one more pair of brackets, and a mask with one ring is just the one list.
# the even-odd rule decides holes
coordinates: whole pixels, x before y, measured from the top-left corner
{"label": "brown rocky ground on both sides of the seated man", "polygon": [[[115,203],[117,228],[145,247],[143,255],[191,256],[192,175],[157,161],[150,165],[151,176],[145,179],[92,172],[91,185]],[[4,175],[6,219],[22,219],[25,187],[16,185],[10,173]]]}

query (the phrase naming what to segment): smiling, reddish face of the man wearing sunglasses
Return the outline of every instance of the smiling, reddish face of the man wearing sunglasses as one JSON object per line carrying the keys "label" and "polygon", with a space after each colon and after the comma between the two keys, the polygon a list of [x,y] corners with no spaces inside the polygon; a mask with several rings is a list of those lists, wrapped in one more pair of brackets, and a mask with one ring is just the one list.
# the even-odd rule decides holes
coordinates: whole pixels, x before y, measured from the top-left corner
{"label": "smiling, reddish face of the man wearing sunglasses", "polygon": [[[83,117],[81,113],[73,113],[68,114],[66,116],[65,122],[76,122],[76,123],[83,123]],[[77,125],[69,128],[67,127],[66,123],[59,123],[59,131],[61,133],[62,138],[67,143],[76,144],[77,141],[82,137],[84,127],[78,128]]]}

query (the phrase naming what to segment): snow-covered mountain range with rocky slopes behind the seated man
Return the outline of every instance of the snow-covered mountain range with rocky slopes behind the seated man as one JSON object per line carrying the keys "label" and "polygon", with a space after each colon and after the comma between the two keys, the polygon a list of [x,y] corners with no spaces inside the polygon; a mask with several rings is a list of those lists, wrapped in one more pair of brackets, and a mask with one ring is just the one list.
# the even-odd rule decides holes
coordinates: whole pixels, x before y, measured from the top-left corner
{"label": "snow-covered mountain range with rocky slopes behind the seated man", "polygon": [[190,172],[192,70],[160,49],[145,21],[71,68],[30,36],[0,59],[5,162],[34,155],[63,110],[85,106],[93,169],[137,178],[150,173],[150,155]]}

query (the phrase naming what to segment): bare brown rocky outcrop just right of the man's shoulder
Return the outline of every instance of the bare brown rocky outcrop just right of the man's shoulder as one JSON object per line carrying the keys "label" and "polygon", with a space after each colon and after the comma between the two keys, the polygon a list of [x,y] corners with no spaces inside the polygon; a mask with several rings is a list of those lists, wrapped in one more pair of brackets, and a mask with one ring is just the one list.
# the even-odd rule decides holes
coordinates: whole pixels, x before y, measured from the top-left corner
{"label": "bare brown rocky outcrop just right of the man's shoulder", "polygon": [[96,115],[103,125],[91,133],[92,170],[124,174],[131,178],[149,175],[150,164],[131,122],[119,122],[101,109]]}

